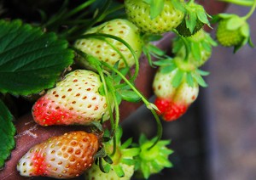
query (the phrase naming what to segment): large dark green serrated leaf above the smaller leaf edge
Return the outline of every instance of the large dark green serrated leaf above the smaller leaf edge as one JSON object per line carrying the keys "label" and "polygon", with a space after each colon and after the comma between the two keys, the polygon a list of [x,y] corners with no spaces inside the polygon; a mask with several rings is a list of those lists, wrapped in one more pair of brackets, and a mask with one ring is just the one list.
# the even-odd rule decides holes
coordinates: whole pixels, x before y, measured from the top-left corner
{"label": "large dark green serrated leaf above the smaller leaf edge", "polygon": [[53,87],[73,63],[68,42],[20,20],[0,20],[0,92],[20,95]]}

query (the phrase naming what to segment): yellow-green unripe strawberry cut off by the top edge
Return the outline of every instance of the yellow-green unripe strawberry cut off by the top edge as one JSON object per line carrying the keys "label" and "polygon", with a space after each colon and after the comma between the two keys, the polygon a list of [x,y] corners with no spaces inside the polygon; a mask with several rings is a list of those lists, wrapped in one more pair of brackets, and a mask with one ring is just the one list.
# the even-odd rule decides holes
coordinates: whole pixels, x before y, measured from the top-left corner
{"label": "yellow-green unripe strawberry cut off by the top edge", "polygon": [[125,0],[125,11],[128,19],[137,25],[141,31],[151,34],[172,31],[182,22],[183,11],[175,8],[172,1],[165,0],[160,14],[152,19],[150,8],[153,5],[149,5],[143,0]]}

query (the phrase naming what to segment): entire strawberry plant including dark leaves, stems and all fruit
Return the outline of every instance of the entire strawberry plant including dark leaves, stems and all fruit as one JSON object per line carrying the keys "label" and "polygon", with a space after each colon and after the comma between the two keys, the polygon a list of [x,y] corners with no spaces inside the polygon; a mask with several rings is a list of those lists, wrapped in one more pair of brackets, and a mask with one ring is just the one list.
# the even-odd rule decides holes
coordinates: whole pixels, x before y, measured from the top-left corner
{"label": "entire strawberry plant including dark leaves, stems and all fruit", "polygon": [[[201,69],[212,47],[219,43],[234,52],[247,43],[253,47],[247,19],[255,0],[223,1],[251,10],[240,17],[210,14],[194,0],[66,0],[55,12],[39,9],[40,19],[34,20],[0,8],[0,177],[8,173],[4,164],[15,149],[20,116],[9,101],[18,98],[30,103],[26,113],[45,132],[83,129],[23,147],[27,153],[17,155],[17,171],[12,167],[21,176],[147,179],[172,167],[161,120],[182,119],[199,88],[207,87],[203,76],[209,72]],[[215,24],[216,42],[205,29]],[[168,34],[171,54],[154,44]],[[147,68],[156,71],[154,103],[137,87],[143,55]],[[145,104],[154,116],[154,138],[141,135],[137,143],[131,138],[122,143],[119,107],[125,101]]]}

